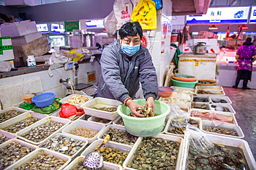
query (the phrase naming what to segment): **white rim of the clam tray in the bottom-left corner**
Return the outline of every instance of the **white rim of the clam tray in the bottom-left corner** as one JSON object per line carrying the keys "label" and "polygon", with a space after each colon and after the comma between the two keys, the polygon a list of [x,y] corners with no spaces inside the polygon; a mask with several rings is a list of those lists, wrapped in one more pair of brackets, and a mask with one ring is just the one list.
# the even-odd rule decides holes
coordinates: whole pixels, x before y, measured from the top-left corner
{"label": "white rim of the clam tray in the bottom-left corner", "polygon": [[[11,142],[18,142],[20,145],[24,146],[24,147],[30,147],[32,149],[37,149],[38,147],[35,146],[35,145],[32,145],[28,142],[24,142],[23,140],[19,140],[19,139],[11,139],[11,140],[8,140],[7,142],[4,142],[0,145],[0,149],[3,149],[5,148],[6,146],[8,146]],[[32,153],[32,152],[31,152]],[[21,162],[21,160],[24,160],[26,158],[28,158],[28,156],[31,155],[31,153],[28,153],[28,155],[24,156],[23,158],[17,160],[17,162],[15,162],[14,164],[11,164],[9,167],[7,167],[6,169],[12,169],[10,167],[12,167],[13,165],[15,164],[19,164]]]}

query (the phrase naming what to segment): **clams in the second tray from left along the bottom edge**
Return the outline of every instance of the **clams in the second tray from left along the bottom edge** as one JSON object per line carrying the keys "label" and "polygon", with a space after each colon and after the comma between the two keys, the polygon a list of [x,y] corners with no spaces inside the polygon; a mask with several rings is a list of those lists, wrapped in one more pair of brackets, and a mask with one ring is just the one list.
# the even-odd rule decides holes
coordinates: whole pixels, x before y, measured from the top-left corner
{"label": "clams in the second tray from left along the bottom edge", "polygon": [[57,170],[62,167],[66,162],[62,159],[56,158],[52,154],[50,155],[39,155],[30,162],[26,162],[15,170],[25,170],[25,169],[52,169]]}

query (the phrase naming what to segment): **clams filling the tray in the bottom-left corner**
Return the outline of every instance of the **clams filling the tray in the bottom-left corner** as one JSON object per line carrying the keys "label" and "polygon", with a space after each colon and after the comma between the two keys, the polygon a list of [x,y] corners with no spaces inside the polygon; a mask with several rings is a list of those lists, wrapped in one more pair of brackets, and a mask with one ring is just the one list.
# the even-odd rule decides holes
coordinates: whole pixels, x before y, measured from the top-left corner
{"label": "clams filling the tray in the bottom-left corner", "polygon": [[0,149],[0,169],[6,169],[11,164],[17,162],[34,149],[25,147],[18,142],[11,142],[6,147]]}

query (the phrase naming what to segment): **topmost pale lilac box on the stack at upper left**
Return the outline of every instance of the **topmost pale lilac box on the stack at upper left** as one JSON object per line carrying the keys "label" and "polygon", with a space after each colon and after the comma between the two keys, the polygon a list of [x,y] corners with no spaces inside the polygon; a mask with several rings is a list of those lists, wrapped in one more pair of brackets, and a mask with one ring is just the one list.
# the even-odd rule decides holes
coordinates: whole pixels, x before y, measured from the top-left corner
{"label": "topmost pale lilac box on the stack at upper left", "polygon": [[24,36],[37,32],[35,21],[21,21],[0,25],[1,36]]}

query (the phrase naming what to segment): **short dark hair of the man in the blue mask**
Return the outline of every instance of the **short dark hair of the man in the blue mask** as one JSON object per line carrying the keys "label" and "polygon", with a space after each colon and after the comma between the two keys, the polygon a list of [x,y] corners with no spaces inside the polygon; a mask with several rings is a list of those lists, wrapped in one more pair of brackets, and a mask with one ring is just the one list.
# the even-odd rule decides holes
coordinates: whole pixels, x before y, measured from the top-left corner
{"label": "short dark hair of the man in the blue mask", "polygon": [[119,30],[119,35],[121,39],[124,39],[125,36],[140,36],[140,39],[143,38],[143,29],[140,26],[140,23],[135,21],[135,22],[128,22],[122,25],[122,27]]}

